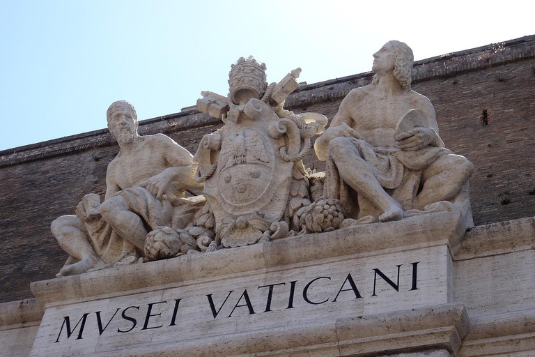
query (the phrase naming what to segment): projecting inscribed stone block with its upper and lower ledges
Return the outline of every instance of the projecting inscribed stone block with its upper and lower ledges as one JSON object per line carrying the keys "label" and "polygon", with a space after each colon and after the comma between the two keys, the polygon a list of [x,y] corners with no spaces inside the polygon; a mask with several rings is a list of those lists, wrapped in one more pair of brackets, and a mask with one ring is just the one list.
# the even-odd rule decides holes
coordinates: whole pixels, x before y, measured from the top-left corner
{"label": "projecting inscribed stone block with its upper and lower ledges", "polygon": [[455,356],[465,230],[433,213],[36,282],[30,356]]}

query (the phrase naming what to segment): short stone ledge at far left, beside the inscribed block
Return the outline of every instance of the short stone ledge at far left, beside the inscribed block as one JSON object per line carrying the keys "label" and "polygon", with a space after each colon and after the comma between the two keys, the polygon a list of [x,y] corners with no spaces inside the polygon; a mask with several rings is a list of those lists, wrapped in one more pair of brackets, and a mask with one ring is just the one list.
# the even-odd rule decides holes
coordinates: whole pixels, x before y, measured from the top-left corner
{"label": "short stone ledge at far left, beside the inscribed block", "polygon": [[44,310],[36,298],[0,304],[0,331],[40,324]]}

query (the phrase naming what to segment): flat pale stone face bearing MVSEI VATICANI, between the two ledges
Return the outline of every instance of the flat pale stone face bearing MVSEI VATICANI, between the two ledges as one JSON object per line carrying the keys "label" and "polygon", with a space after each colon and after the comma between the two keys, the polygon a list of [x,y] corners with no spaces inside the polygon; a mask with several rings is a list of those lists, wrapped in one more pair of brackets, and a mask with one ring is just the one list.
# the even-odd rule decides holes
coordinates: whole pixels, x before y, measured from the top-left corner
{"label": "flat pale stone face bearing MVSEI VATICANI, between the two ledges", "polygon": [[[239,250],[233,252],[235,255],[240,253]],[[158,351],[161,347],[166,348],[164,345],[168,343],[205,340],[210,337],[219,339],[222,335],[228,335],[228,340],[233,340],[235,334],[249,335],[249,331],[257,330],[262,330],[264,335],[270,336],[272,330],[277,331],[280,328],[284,328],[288,335],[297,337],[292,327],[299,331],[303,326],[315,325],[318,321],[336,321],[339,330],[336,336],[342,340],[353,341],[357,338],[355,331],[361,331],[359,334],[364,334],[359,337],[362,342],[348,342],[347,348],[353,351],[356,348],[355,343],[363,343],[370,333],[395,333],[396,328],[402,328],[405,332],[412,331],[412,328],[420,331],[426,328],[422,326],[426,319],[429,319],[430,324],[440,323],[441,320],[433,315],[440,315],[440,309],[431,313],[425,306],[449,302],[445,291],[448,286],[448,264],[440,258],[447,256],[445,247],[423,248],[412,250],[408,254],[330,261],[265,273],[251,271],[235,278],[227,276],[220,280],[193,280],[188,284],[164,290],[155,289],[139,294],[132,294],[133,291],[130,291],[127,295],[98,298],[94,301],[51,304],[47,305],[31,356],[65,354],[65,351],[69,351],[67,356],[77,356],[87,354],[88,351],[104,353],[118,349],[137,349],[149,344],[153,346],[153,351]],[[414,259],[420,259],[416,287],[413,279],[414,265],[411,264]],[[149,264],[141,266],[144,265]],[[396,278],[396,265],[401,266],[399,280]],[[375,275],[374,269],[380,269],[391,279],[390,283],[380,275]],[[270,299],[271,284],[273,289]],[[354,289],[352,284],[355,285]],[[395,284],[398,291],[391,284]],[[67,305],[63,305],[65,303]],[[176,315],[173,319],[175,307]],[[419,317],[411,325],[410,316],[414,311],[418,311],[419,307],[425,307],[425,312],[417,312]],[[394,322],[391,321],[389,313],[396,315],[396,311],[408,308],[412,310],[396,317]],[[125,309],[128,309],[127,312]],[[102,335],[98,330],[97,312],[100,312],[99,316],[104,324],[111,321]],[[123,312],[127,317],[137,320],[135,327],[132,321],[121,317]],[[79,335],[82,322],[76,330],[74,326],[86,313],[88,315],[84,331]],[[357,319],[353,322],[347,319],[348,316]],[[70,321],[70,337],[66,333],[65,317]],[[378,321],[382,320],[385,321],[385,326],[377,325]],[[366,325],[361,326],[364,323]],[[312,332],[316,335],[314,328]],[[432,332],[428,337],[422,338],[438,338],[445,343],[450,337],[444,340],[444,333],[446,332],[437,335]],[[77,336],[82,338],[77,340]],[[304,338],[307,340],[303,340]],[[300,336],[301,343],[306,343],[302,346],[306,346],[310,338],[307,335]],[[419,343],[423,343],[422,338],[418,340]],[[272,343],[268,343],[267,339],[264,341],[267,345]],[[279,343],[280,341],[277,341],[277,344]],[[414,347],[415,344],[416,340],[412,340],[409,345]],[[208,348],[206,343],[202,345],[205,347],[199,344],[198,348]],[[370,351],[369,343],[362,346],[366,346]],[[379,346],[375,345],[372,350],[379,349]],[[265,351],[264,348],[265,346],[258,347],[259,351]],[[279,348],[286,349],[288,346]],[[381,347],[381,350],[384,350],[384,347]]]}

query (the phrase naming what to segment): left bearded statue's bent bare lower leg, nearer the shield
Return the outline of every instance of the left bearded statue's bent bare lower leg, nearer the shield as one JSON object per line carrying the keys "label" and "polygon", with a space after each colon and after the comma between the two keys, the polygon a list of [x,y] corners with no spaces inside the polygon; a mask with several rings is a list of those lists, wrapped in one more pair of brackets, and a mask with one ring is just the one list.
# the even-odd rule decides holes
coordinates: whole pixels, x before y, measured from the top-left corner
{"label": "left bearded statue's bent bare lower leg, nearer the shield", "polygon": [[130,241],[141,252],[144,251],[148,231],[139,215],[130,211],[128,202],[124,197],[117,195],[102,202],[100,214],[119,236]]}

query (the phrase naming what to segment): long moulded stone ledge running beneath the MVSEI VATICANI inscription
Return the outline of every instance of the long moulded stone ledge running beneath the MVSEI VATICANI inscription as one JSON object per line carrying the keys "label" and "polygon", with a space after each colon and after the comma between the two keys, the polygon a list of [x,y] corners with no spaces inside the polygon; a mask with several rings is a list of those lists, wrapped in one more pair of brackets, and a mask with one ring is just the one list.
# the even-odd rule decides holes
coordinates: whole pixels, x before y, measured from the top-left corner
{"label": "long moulded stone ledge running beneath the MVSEI VATICANI inscription", "polygon": [[313,324],[270,328],[151,344],[92,354],[107,356],[372,356],[396,352],[446,349],[456,356],[470,321],[461,304],[376,314],[364,318],[318,321]]}

